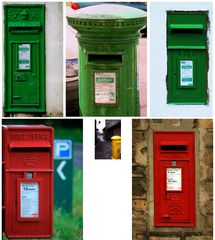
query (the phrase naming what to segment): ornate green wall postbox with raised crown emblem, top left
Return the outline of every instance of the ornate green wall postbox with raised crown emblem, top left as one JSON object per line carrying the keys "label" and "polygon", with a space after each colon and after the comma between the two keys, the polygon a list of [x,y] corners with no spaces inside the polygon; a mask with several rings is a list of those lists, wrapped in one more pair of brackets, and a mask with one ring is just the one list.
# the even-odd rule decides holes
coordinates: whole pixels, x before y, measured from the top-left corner
{"label": "ornate green wall postbox with raised crown emblem, top left", "polygon": [[45,112],[45,5],[4,5],[5,112]]}

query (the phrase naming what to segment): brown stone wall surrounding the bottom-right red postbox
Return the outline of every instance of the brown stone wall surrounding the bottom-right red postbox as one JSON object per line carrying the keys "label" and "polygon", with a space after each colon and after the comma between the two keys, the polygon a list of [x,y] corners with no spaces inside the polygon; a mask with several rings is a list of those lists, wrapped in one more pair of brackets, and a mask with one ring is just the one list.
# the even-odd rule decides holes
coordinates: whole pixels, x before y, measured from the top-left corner
{"label": "brown stone wall surrounding the bottom-right red postbox", "polygon": [[[156,119],[132,122],[133,238],[132,240],[212,240],[213,123],[200,119]],[[196,227],[156,228],[153,199],[153,131],[195,131]]]}

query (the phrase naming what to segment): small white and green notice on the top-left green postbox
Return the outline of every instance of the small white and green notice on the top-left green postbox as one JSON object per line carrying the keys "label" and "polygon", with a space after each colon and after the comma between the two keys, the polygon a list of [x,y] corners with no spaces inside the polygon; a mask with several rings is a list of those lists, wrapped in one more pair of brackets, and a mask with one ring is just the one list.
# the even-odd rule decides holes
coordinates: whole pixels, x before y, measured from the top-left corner
{"label": "small white and green notice on the top-left green postbox", "polygon": [[30,69],[30,44],[19,45],[19,69]]}

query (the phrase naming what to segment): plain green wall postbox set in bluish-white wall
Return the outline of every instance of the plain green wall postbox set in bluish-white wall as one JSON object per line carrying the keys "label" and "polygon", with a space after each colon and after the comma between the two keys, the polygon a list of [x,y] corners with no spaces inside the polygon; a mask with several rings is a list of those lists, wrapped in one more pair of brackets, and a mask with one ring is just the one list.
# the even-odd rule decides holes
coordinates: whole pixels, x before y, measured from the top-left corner
{"label": "plain green wall postbox set in bluish-white wall", "polygon": [[207,103],[207,12],[167,13],[167,102]]}

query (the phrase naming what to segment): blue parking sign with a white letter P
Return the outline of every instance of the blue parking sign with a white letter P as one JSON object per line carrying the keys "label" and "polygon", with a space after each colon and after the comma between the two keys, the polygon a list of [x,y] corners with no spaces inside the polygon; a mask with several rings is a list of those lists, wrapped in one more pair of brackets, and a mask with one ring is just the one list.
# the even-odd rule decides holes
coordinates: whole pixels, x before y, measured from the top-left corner
{"label": "blue parking sign with a white letter P", "polygon": [[72,159],[71,140],[54,140],[54,159]]}

